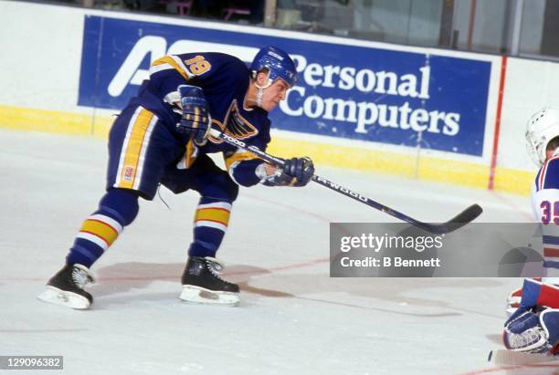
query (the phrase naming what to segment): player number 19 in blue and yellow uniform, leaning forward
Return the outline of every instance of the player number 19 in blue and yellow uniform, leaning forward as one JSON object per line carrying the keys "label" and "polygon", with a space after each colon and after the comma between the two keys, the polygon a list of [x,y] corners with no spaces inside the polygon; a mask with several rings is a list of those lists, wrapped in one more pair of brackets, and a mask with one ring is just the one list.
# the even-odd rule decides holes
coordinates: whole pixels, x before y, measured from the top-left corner
{"label": "player number 19 in blue and yellow uniform, leaning forward", "polygon": [[[216,252],[227,231],[238,184],[304,186],[314,167],[303,157],[276,168],[212,138],[209,129],[265,150],[270,141],[268,113],[296,81],[293,60],[277,47],[260,49],[250,68],[221,53],[187,53],[154,61],[149,79],[111,127],[106,193],[99,209],[82,224],[66,265],[47,282],[39,299],[90,307],[93,298],[84,290],[93,282],[90,266],[132,224],[139,198],[153,200],[163,184],[174,193],[194,190],[201,195],[180,298],[237,305],[238,286],[219,276],[223,266]],[[227,172],[207,156],[214,152],[223,153]]]}

